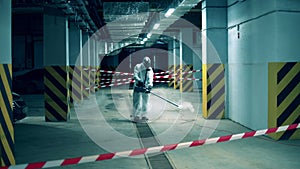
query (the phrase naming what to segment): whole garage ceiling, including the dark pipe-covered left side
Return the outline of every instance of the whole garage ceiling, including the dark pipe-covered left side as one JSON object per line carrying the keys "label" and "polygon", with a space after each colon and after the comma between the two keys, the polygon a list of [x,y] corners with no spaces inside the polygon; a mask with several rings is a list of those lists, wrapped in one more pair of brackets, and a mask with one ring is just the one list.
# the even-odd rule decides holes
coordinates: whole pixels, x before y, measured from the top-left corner
{"label": "whole garage ceiling, including the dark pipe-covered left side", "polygon": [[[13,0],[13,11],[53,7],[62,10],[70,21],[91,34],[99,32],[111,42],[136,43],[151,32],[149,40],[159,35],[178,18],[199,12],[201,0]],[[197,7],[197,9],[195,9]],[[172,16],[164,13],[174,8]],[[173,17],[176,16],[176,17]],[[154,24],[159,23],[157,29]],[[103,29],[104,28],[104,29]],[[156,35],[156,36],[155,36]]]}

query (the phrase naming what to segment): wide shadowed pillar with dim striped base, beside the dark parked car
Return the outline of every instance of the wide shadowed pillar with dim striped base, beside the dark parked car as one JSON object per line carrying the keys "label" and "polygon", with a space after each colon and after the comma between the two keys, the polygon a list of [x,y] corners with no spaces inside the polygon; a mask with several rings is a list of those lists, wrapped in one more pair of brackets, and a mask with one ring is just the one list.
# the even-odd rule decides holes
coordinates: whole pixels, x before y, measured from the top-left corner
{"label": "wide shadowed pillar with dim striped base, beside the dark parked car", "polygon": [[67,121],[69,103],[68,20],[60,10],[44,10],[45,120]]}

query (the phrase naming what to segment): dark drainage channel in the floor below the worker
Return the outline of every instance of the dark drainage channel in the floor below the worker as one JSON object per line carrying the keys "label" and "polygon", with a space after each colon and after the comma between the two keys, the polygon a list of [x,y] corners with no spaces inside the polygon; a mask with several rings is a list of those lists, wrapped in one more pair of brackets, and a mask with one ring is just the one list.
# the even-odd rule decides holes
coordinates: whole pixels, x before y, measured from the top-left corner
{"label": "dark drainage channel in the floor below the worker", "polygon": [[[143,147],[160,146],[147,123],[136,123],[137,133]],[[152,154],[146,156],[146,160],[151,169],[164,168],[174,169],[174,165],[168,159],[166,153]]]}

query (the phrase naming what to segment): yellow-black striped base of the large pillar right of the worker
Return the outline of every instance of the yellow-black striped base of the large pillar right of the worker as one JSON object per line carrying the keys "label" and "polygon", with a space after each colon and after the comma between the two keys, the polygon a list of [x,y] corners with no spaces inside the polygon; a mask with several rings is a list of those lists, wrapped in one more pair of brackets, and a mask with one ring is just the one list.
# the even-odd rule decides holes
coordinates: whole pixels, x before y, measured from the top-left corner
{"label": "yellow-black striped base of the large pillar right of the worker", "polygon": [[202,64],[203,117],[225,117],[225,68],[223,64]]}

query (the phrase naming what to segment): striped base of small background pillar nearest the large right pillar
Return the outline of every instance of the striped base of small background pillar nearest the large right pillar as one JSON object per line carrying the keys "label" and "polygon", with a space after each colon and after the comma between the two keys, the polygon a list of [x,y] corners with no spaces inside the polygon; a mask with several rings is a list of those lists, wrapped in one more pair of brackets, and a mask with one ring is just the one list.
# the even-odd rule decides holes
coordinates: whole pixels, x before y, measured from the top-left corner
{"label": "striped base of small background pillar nearest the large right pillar", "polygon": [[192,80],[184,80],[184,78],[193,78],[192,73],[188,73],[193,70],[193,65],[182,65],[181,68],[181,76],[180,76],[180,92],[192,92],[193,91],[193,81]]}

